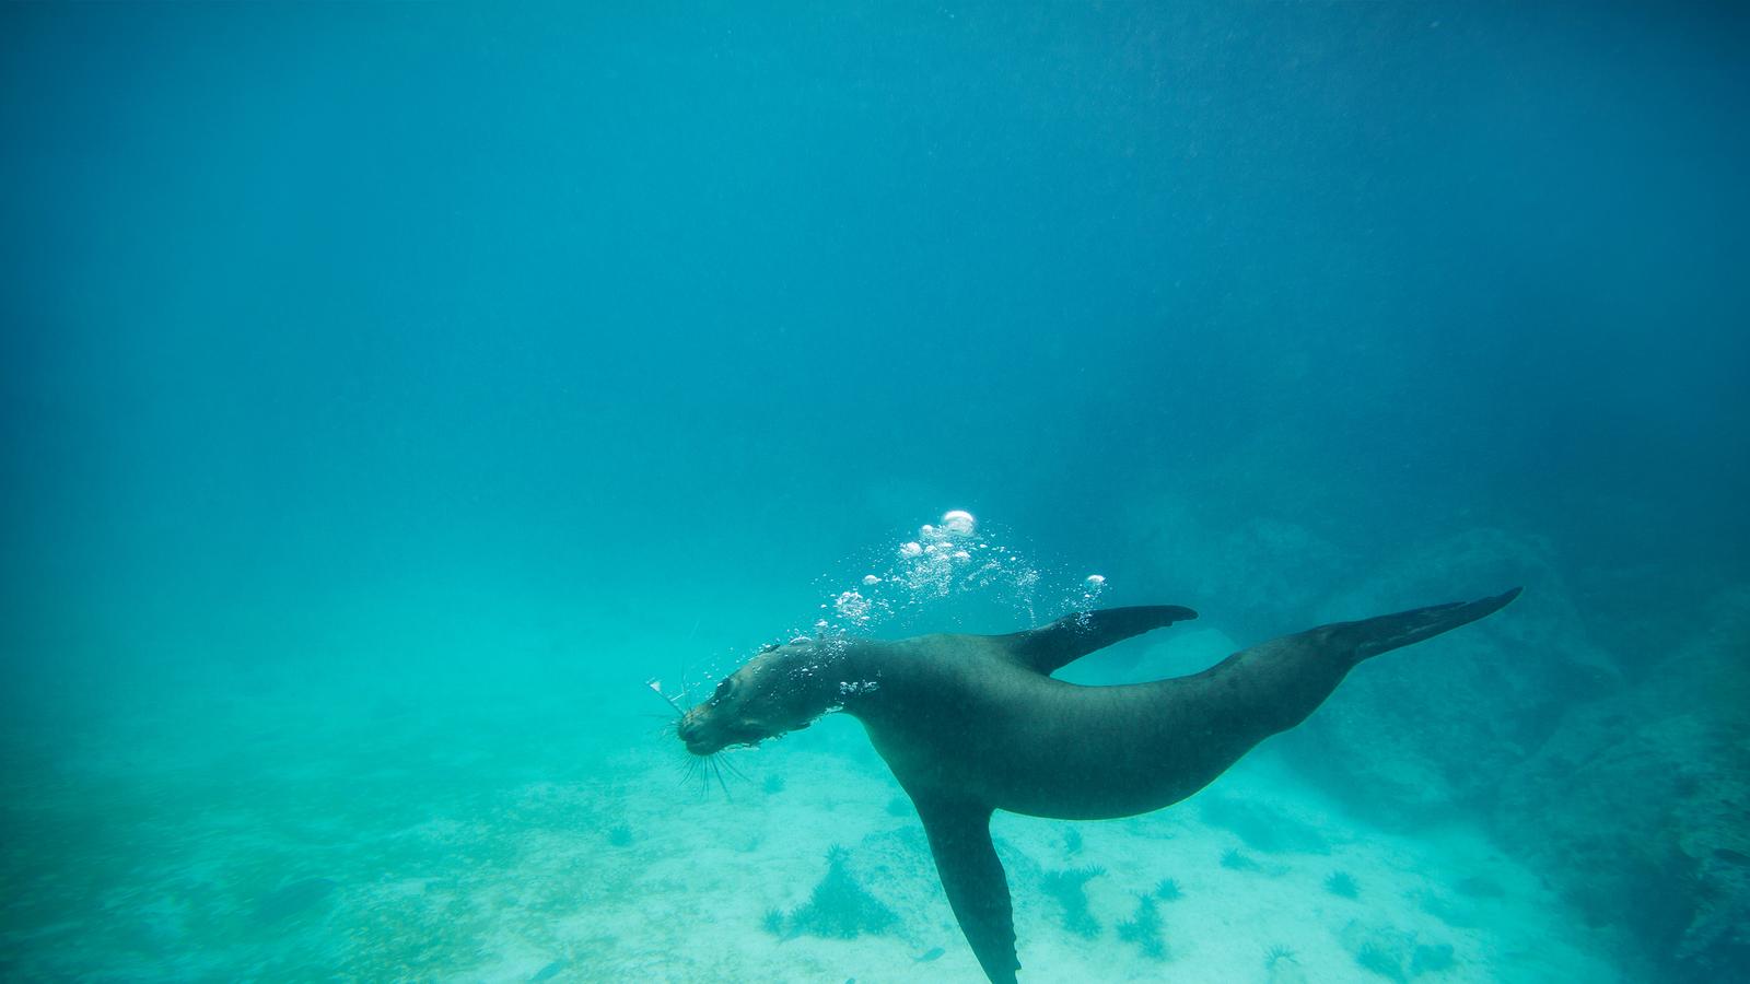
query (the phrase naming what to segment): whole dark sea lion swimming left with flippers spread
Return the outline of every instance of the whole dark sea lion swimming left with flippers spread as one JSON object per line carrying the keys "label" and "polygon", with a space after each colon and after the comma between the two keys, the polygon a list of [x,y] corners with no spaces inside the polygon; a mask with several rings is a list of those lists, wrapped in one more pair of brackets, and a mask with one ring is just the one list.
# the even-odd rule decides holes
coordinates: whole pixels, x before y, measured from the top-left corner
{"label": "whole dark sea lion swimming left with flippers spread", "polygon": [[1197,618],[1113,608],[1010,636],[794,639],[766,646],[676,725],[693,755],[760,744],[828,711],[863,721],[924,821],[936,872],[978,965],[1012,984],[1015,923],[990,812],[1111,819],[1208,786],[1255,744],[1307,718],[1362,660],[1491,615],[1519,588],[1321,625],[1199,674],[1125,686],[1052,679],[1069,662]]}

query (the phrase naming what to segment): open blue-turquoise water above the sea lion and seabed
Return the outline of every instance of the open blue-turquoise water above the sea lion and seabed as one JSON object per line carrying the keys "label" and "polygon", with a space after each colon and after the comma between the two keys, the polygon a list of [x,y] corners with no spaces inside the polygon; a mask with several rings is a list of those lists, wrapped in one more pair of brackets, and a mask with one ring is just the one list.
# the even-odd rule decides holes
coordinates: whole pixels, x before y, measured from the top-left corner
{"label": "open blue-turquoise water above the sea lion and seabed", "polygon": [[[38,933],[128,818],[310,795],[189,749],[402,748],[411,702],[490,721],[480,788],[595,776],[662,741],[644,679],[950,508],[1242,643],[1500,590],[1438,545],[1502,531],[1482,569],[1617,674],[1528,700],[1526,756],[1673,651],[1741,671],[1746,40],[1731,5],[7,7],[0,970],[130,975]],[[1409,566],[1442,594],[1377,587]],[[1614,917],[1624,966],[1692,970],[1687,917]],[[180,931],[112,944],[173,975]]]}

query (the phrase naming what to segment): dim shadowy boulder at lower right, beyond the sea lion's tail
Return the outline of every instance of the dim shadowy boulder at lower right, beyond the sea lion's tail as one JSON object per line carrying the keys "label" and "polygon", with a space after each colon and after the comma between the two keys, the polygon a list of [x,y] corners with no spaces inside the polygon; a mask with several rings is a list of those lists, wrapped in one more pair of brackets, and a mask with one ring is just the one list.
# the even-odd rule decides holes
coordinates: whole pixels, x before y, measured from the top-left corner
{"label": "dim shadowy boulder at lower right, beyond the sea lion's tail", "polygon": [[1668,980],[1750,979],[1750,588],[1503,781],[1502,839]]}

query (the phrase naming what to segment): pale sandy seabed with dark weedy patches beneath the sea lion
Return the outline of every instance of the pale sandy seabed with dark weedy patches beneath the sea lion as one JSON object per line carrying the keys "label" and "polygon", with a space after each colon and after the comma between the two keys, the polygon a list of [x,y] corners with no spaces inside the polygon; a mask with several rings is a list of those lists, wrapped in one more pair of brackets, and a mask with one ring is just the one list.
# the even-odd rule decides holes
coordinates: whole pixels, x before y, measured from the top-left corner
{"label": "pale sandy seabed with dark weedy patches beneath the sea lion", "polygon": [[[984,980],[922,826],[854,721],[730,755],[742,777],[724,790],[682,779],[684,751],[635,714],[595,721],[588,741],[572,707],[289,716],[301,727],[231,742],[170,741],[161,718],[170,732],[110,734],[79,769],[14,774],[0,972]],[[1484,835],[1376,830],[1269,744],[1166,811],[1102,823],[999,812],[992,832],[1024,980],[1620,979]],[[892,924],[854,938],[772,931],[768,914],[810,900],[833,847]],[[1076,928],[1048,884],[1064,870],[1087,875],[1090,921]],[[1339,872],[1353,896],[1332,891]],[[1150,956],[1120,926],[1164,879],[1178,893],[1157,896],[1162,952]]]}

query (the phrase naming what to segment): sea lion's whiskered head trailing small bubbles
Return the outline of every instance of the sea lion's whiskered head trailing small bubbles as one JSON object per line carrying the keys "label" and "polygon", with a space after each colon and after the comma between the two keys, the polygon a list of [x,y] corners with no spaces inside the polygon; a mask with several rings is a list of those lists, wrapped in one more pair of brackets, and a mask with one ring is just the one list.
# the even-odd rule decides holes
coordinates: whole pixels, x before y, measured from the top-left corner
{"label": "sea lion's whiskered head trailing small bubbles", "polygon": [[681,718],[676,732],[693,755],[716,755],[807,728],[838,700],[840,655],[838,643],[821,639],[766,646],[723,678],[710,699]]}

